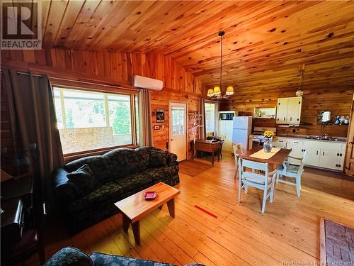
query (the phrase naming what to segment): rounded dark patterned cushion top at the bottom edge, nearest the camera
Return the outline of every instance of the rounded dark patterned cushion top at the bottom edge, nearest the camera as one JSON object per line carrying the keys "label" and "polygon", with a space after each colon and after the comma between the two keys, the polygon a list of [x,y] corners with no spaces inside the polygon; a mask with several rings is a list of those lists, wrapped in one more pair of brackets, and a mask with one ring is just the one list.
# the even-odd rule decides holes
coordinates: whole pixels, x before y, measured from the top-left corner
{"label": "rounded dark patterned cushion top at the bottom edge, nearest the camera", "polygon": [[67,247],[52,255],[43,266],[94,266],[91,257],[77,248]]}

